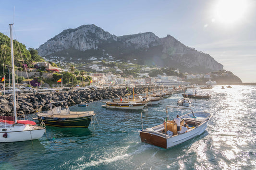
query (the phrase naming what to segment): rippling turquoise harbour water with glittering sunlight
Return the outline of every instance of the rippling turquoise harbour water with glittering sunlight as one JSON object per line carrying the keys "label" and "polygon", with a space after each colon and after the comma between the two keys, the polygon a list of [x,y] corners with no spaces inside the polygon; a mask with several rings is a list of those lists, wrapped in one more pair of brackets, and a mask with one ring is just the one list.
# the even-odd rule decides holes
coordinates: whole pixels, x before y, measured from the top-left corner
{"label": "rippling turquoise harbour water with glittering sunlight", "polygon": [[[142,143],[139,137],[141,113],[143,128],[161,124],[165,106],[176,104],[181,94],[145,111],[111,110],[94,102],[88,107],[71,107],[97,113],[98,124],[95,120],[88,129],[47,126],[47,134],[33,145],[31,141],[0,143],[0,169],[256,169],[256,86],[197,89],[198,95],[207,93],[211,100],[194,100],[193,110],[212,113],[208,127],[181,145],[162,149]],[[176,114],[170,113],[170,118]]]}

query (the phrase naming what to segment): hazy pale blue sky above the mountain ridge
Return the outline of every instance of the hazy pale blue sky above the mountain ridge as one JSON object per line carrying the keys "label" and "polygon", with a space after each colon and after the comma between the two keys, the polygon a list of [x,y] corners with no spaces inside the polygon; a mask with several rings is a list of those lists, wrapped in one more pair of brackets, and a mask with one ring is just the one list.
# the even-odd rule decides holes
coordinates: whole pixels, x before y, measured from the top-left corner
{"label": "hazy pale blue sky above the mountain ridge", "polygon": [[92,23],[117,36],[170,34],[256,82],[256,0],[2,0],[0,32],[8,36],[13,13],[14,38],[27,47]]}

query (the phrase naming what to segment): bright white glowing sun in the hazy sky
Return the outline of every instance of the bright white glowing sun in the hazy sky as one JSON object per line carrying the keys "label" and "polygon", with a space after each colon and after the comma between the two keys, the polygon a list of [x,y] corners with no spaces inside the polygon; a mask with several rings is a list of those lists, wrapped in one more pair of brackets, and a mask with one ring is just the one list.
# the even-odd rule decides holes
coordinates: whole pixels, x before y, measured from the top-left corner
{"label": "bright white glowing sun in the hazy sky", "polygon": [[236,23],[243,20],[247,0],[219,0],[215,7],[215,19],[221,23]]}

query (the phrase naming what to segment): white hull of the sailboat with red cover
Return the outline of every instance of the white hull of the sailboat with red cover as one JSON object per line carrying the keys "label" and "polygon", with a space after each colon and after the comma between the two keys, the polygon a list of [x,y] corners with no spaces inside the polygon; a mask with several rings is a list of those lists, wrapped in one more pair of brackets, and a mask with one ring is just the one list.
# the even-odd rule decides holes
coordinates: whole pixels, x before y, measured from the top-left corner
{"label": "white hull of the sailboat with red cover", "polygon": [[[34,125],[10,125],[0,127],[0,142],[19,142],[42,137],[45,128]],[[4,137],[7,134],[7,137]]]}

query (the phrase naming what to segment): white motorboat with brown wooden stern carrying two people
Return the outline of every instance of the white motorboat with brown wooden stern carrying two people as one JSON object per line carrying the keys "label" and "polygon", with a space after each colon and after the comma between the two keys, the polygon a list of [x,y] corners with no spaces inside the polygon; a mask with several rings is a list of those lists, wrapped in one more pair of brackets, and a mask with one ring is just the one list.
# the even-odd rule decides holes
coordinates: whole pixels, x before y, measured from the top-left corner
{"label": "white motorboat with brown wooden stern carrying two people", "polygon": [[[188,126],[185,133],[178,133],[177,124],[169,120],[167,108],[187,109],[192,111],[191,113],[180,116],[182,119],[181,125]],[[206,130],[207,122],[210,117],[211,113],[208,112],[193,112],[190,107],[167,105],[165,123],[141,130],[140,138],[142,142],[168,149],[192,139],[195,136],[201,135]],[[184,126],[181,126],[181,131],[182,128],[184,128]]]}

